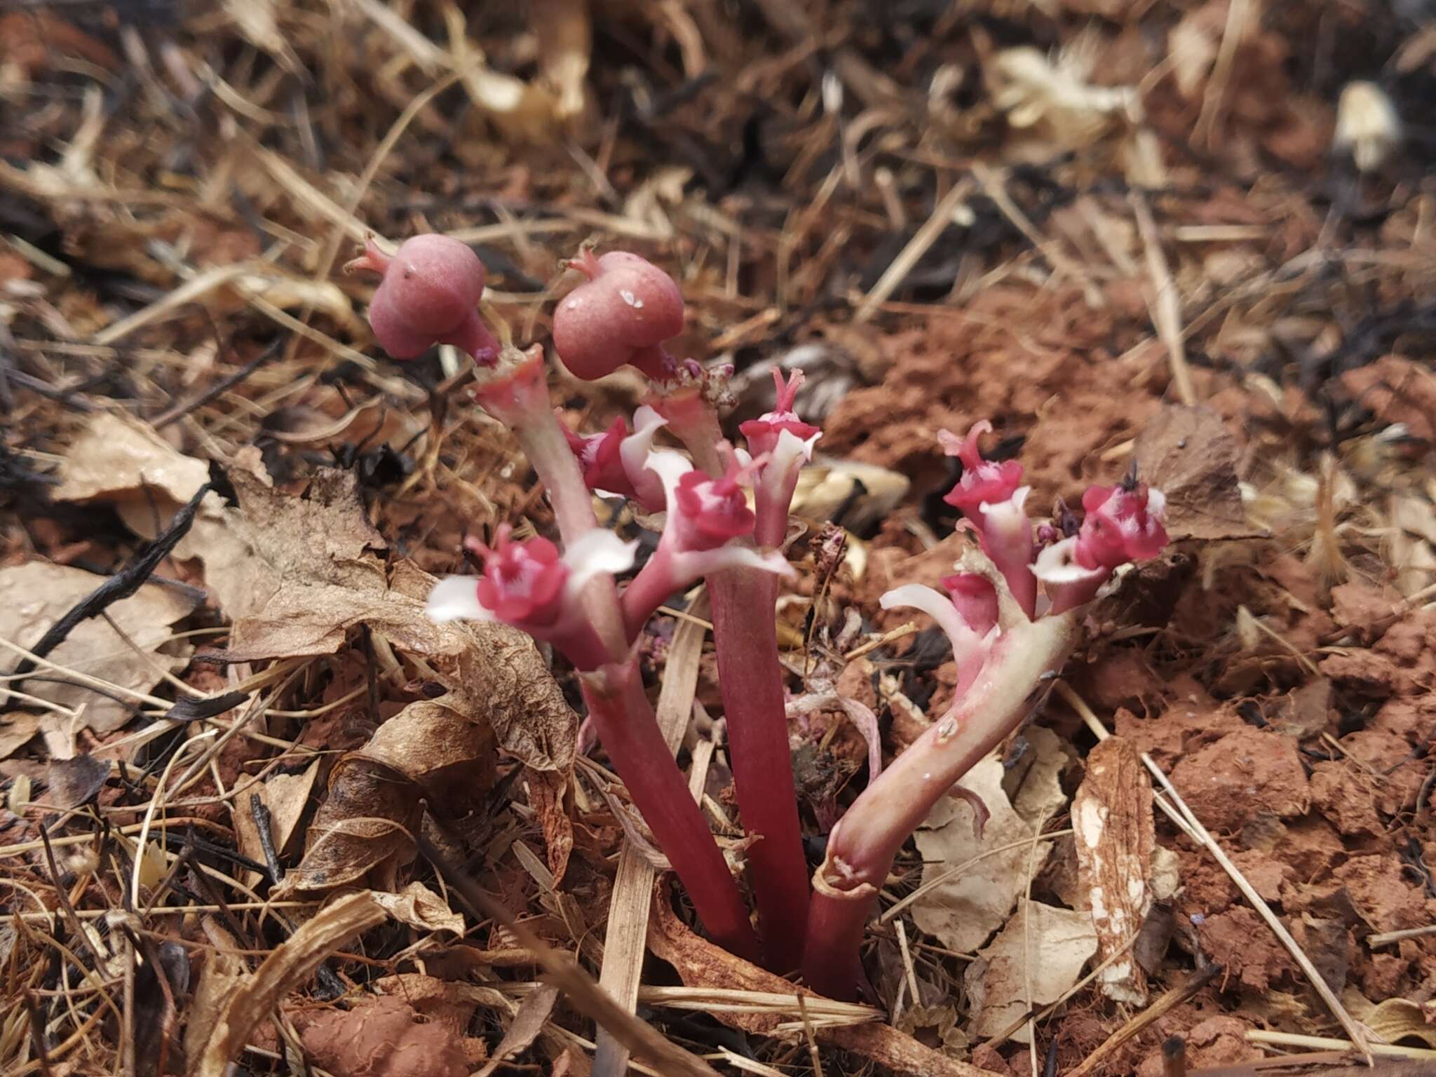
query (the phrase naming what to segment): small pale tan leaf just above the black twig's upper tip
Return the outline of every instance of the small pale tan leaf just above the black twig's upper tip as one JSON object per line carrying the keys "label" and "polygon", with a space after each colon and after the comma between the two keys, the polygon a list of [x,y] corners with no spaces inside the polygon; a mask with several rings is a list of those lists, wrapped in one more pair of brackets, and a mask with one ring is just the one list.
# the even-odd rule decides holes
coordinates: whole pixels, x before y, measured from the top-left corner
{"label": "small pale tan leaf just above the black twig's upper tip", "polygon": [[65,454],[55,500],[138,503],[151,517],[152,500],[158,500],[168,521],[208,478],[208,464],[180,452],[149,424],[99,412]]}

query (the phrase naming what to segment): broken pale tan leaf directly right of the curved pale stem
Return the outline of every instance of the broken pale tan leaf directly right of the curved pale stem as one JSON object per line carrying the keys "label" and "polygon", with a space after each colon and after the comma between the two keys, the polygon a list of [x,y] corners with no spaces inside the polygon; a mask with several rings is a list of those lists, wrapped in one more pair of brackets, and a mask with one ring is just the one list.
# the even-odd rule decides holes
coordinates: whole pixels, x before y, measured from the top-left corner
{"label": "broken pale tan leaf directly right of the curved pale stem", "polygon": [[[988,850],[1032,837],[1035,827],[1064,803],[1060,774],[1066,755],[1058,738],[1041,727],[1028,728],[1025,735],[1037,751],[1037,763],[1017,793],[1018,806],[1014,807],[1002,791],[1005,771],[997,755],[978,763],[958,783],[988,807],[991,817],[981,839],[974,833],[972,807],[954,797],[943,797],[923,821],[916,833],[923,883]],[[1020,844],[982,856],[913,902],[913,920],[951,949],[976,949],[1007,920],[1018,895],[1027,889],[1028,867],[1032,873],[1038,872],[1051,847],[1051,841],[1041,841],[1035,853],[1030,853],[1030,846]]]}

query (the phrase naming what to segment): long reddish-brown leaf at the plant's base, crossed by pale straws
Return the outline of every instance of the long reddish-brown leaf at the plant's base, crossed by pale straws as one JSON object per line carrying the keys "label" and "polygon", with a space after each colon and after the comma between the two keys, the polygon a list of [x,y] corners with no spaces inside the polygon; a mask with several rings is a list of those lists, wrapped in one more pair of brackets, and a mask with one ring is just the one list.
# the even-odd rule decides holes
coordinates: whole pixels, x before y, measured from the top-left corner
{"label": "long reddish-brown leaf at the plant's base, crossed by pale straws", "polygon": [[[721,946],[695,935],[688,925],[678,919],[666,899],[662,880],[659,880],[653,902],[653,916],[649,919],[648,945],[653,954],[678,971],[678,978],[686,987],[767,991],[784,995],[801,992],[808,998],[821,998],[821,995],[796,988],[783,976],[750,965],[742,958],[735,958]],[[783,1012],[731,1010],[714,1010],[714,1017],[725,1025],[757,1035],[774,1035],[777,1027],[788,1020]],[[920,1073],[923,1077],[995,1077],[991,1070],[949,1058],[887,1024],[869,1021],[866,1024],[821,1025],[814,1028],[813,1034],[819,1043],[852,1051],[893,1073]]]}

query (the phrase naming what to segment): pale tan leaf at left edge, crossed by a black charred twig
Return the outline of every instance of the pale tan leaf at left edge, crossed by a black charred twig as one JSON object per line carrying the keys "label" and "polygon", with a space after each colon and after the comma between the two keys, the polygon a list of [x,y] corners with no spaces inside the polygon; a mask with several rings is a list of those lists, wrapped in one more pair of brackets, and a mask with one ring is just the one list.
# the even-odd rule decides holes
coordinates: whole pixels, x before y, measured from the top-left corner
{"label": "pale tan leaf at left edge, crossed by a black charred twig", "polygon": [[[105,577],[82,569],[46,561],[0,569],[0,639],[22,646],[34,643],[103,582]],[[146,583],[105,610],[141,653],[136,655],[103,617],[92,617],[76,625],[69,638],[49,653],[49,661],[122,689],[149,691],[159,682],[161,671],[184,669],[188,662],[190,646],[169,642],[169,626],[188,616],[194,605],[188,592]],[[76,727],[89,727],[96,732],[118,729],[129,721],[134,709],[125,699],[111,699],[80,685],[40,678],[26,681],[24,691],[60,707],[83,707],[83,721]],[[0,691],[0,705],[7,698]]]}

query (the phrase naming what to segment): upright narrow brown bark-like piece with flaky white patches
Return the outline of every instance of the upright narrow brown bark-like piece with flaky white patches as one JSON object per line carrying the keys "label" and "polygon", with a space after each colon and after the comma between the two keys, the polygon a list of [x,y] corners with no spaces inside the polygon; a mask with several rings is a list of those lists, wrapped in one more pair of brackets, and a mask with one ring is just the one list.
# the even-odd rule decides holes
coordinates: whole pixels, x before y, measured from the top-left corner
{"label": "upright narrow brown bark-like piece with flaky white patches", "polygon": [[1130,742],[1109,737],[1091,750],[1087,777],[1073,797],[1071,820],[1078,877],[1097,932],[1097,956],[1114,958],[1097,982],[1107,998],[1146,1005],[1146,974],[1133,958],[1130,942],[1152,908],[1147,879],[1156,836],[1152,778]]}

